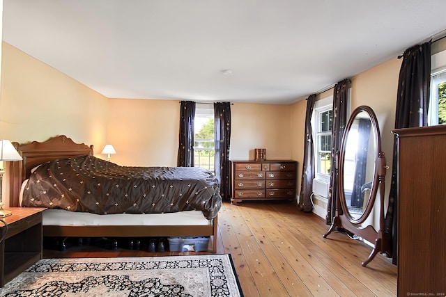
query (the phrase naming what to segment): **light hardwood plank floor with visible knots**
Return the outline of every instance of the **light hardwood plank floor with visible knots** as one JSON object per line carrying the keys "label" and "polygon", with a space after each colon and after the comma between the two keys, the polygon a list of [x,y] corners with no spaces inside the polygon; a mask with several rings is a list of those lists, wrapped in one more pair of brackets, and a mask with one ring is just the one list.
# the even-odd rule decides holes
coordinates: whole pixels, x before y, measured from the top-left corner
{"label": "light hardwood plank floor with visible knots", "polygon": [[[252,296],[396,296],[397,266],[371,247],[289,202],[225,202],[219,213],[217,253],[230,253],[243,293]],[[71,250],[71,251],[70,251]],[[141,257],[185,255],[144,250],[44,251],[44,257]]]}

